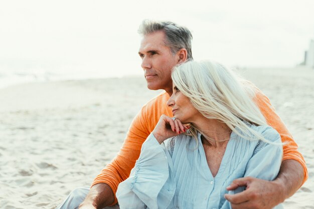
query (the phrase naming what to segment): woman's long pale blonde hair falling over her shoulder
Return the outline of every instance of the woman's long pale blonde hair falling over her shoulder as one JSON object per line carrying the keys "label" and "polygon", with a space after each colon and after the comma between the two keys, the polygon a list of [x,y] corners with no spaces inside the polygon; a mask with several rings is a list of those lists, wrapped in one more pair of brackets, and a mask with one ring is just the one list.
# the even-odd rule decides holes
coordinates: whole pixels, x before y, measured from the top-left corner
{"label": "woman's long pale blonde hair falling over her shoulder", "polygon": [[[188,61],[173,69],[172,80],[205,117],[224,122],[245,139],[272,143],[248,126],[267,123],[253,102],[254,91],[234,71],[213,61]],[[196,140],[197,132],[202,133],[193,124],[189,130]]]}

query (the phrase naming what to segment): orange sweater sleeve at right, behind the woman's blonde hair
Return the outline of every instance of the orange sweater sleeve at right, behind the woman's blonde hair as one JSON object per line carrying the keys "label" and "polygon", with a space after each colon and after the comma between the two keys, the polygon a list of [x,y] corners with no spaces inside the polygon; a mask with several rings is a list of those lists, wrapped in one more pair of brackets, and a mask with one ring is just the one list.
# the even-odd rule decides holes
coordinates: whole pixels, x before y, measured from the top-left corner
{"label": "orange sweater sleeve at right, behind the woman's blonde hair", "polygon": [[297,144],[289,133],[285,124],[282,122],[281,118],[277,115],[275,108],[271,105],[270,100],[266,95],[264,95],[256,86],[252,83],[253,89],[255,90],[255,103],[258,105],[259,109],[263,113],[268,125],[272,126],[280,134],[281,141],[283,143],[283,157],[282,160],[294,159],[298,161],[303,167],[303,182],[306,181],[308,174],[305,164],[304,157],[297,150]]}

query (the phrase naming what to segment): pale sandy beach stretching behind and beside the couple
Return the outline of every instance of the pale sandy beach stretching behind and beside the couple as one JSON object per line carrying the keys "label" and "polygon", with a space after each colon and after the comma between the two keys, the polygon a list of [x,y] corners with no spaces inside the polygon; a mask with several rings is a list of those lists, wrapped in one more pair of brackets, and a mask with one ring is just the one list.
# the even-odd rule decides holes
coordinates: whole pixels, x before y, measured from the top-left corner
{"label": "pale sandy beach stretching behind and beside the couple", "polygon": [[[285,208],[314,208],[314,69],[242,69],[271,100],[303,154],[308,179]],[[0,88],[0,208],[55,208],[118,152],[141,106],[161,91],[143,77]]]}

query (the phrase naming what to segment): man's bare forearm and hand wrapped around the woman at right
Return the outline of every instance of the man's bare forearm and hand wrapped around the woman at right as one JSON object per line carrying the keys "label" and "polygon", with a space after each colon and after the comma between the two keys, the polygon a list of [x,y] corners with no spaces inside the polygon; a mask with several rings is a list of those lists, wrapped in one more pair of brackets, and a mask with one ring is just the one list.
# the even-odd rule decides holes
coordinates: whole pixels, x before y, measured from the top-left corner
{"label": "man's bare forearm and hand wrapped around the woman at right", "polygon": [[237,194],[226,194],[234,209],[238,208],[273,208],[292,196],[303,182],[303,169],[298,161],[282,161],[279,174],[273,181],[253,177],[235,179],[228,190],[246,186],[246,190]]}

